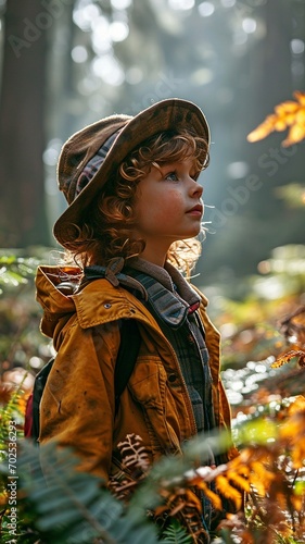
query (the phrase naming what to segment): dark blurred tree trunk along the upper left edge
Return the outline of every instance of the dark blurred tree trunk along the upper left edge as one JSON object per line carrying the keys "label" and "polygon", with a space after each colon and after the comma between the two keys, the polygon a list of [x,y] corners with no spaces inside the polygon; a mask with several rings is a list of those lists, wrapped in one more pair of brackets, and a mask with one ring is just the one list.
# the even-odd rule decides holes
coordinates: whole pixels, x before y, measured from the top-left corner
{"label": "dark blurred tree trunk along the upper left edge", "polygon": [[48,244],[43,106],[47,33],[40,0],[8,0],[0,102],[0,246]]}

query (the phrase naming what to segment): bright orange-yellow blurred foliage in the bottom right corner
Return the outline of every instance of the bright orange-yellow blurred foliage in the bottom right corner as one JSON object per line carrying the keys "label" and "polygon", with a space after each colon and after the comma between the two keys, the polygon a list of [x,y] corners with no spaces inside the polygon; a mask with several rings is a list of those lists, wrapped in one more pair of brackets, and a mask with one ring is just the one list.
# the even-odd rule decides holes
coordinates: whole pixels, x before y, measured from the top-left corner
{"label": "bright orange-yellow blurred foliage in the bottom right corner", "polygon": [[268,401],[265,395],[257,408],[236,429],[241,455],[228,474],[246,492],[246,522],[239,516],[221,522],[226,534],[240,537],[225,542],[304,542],[305,398]]}

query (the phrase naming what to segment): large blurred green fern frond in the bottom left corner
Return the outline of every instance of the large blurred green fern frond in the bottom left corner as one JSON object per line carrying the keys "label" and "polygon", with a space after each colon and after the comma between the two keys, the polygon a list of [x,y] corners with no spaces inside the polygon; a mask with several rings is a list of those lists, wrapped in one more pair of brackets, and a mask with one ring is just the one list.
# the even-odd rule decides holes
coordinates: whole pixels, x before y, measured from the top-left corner
{"label": "large blurred green fern frond in the bottom left corner", "polygon": [[157,543],[156,528],[147,518],[140,520],[102,489],[101,479],[77,471],[76,465],[77,458],[69,449],[59,449],[51,443],[40,448],[28,441],[21,443],[18,492],[25,496],[23,507],[35,512],[34,528],[41,542]]}

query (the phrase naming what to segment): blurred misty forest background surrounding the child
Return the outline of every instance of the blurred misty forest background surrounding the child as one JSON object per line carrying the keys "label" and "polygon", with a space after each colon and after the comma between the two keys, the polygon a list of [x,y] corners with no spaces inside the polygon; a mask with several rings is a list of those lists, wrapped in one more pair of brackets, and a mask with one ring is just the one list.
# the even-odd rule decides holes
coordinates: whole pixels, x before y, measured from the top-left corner
{"label": "blurred misty forest background surrounding the child", "polygon": [[[169,97],[194,101],[212,131],[193,282],[223,334],[233,416],[271,401],[282,379],[271,363],[293,336],[281,323],[305,304],[305,144],[283,144],[285,123],[254,143],[247,135],[304,92],[305,1],[0,0],[0,23],[2,406],[12,383],[30,390],[52,354],[34,275],[61,251],[52,224],[65,207],[62,144],[102,116]],[[303,393],[300,381],[281,387]]]}

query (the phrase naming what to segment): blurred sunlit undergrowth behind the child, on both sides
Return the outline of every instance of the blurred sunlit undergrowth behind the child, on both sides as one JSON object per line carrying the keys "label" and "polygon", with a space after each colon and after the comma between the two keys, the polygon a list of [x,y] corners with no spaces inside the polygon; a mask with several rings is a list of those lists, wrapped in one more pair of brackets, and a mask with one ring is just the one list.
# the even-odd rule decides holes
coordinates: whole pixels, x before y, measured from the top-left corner
{"label": "blurred sunlit undergrowth behind the child, on both sides", "polygon": [[[35,257],[14,255],[13,250],[1,256],[3,276],[10,280],[2,283],[0,296],[1,379],[8,388],[29,371],[26,391],[53,355],[51,341],[39,332],[41,308],[34,292],[37,264],[50,262],[53,254],[48,248],[30,248],[27,255],[29,251]],[[223,380],[233,411],[275,375],[271,363],[287,345],[281,321],[304,305],[305,246],[276,248],[258,270],[259,275],[243,282],[232,277],[202,287],[209,299],[208,313],[221,333]]]}

